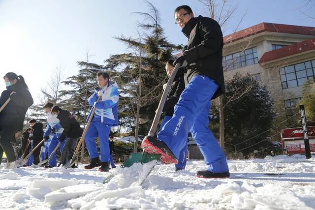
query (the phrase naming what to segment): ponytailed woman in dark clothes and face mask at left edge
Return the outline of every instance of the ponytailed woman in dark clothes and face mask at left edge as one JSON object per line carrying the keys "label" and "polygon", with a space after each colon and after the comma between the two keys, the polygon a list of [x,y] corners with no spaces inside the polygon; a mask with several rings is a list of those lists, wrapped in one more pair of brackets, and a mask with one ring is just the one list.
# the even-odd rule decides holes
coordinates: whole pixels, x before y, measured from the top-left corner
{"label": "ponytailed woman in dark clothes and face mask at left edge", "polygon": [[4,150],[10,169],[15,168],[16,157],[11,144],[12,136],[16,131],[22,131],[25,114],[33,104],[33,98],[28,90],[24,78],[13,72],[3,77],[6,90],[0,96],[0,107],[10,98],[9,103],[0,112],[0,146]]}

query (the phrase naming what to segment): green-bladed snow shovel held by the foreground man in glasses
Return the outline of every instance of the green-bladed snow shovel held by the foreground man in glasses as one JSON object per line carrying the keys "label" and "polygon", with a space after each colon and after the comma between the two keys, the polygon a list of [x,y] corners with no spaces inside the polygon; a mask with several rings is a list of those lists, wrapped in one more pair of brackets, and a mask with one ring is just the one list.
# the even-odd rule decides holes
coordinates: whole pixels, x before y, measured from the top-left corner
{"label": "green-bladed snow shovel held by the foreground man in glasses", "polygon": [[[171,76],[168,78],[168,81],[167,81],[167,84],[166,84],[166,88],[165,90],[163,91],[163,94],[162,94],[162,97],[159,101],[159,104],[158,104],[158,109],[157,109],[157,112],[156,112],[156,115],[154,117],[154,120],[152,122],[152,125],[151,125],[151,128],[150,128],[150,131],[149,131],[149,134],[148,136],[154,136],[156,131],[157,131],[157,128],[158,128],[158,122],[159,122],[159,119],[161,117],[161,114],[162,114],[162,110],[163,110],[163,107],[164,107],[164,104],[165,104],[165,101],[166,101],[166,97],[167,97],[167,94],[171,88],[171,85],[173,83],[173,80],[177,74],[177,71],[180,67],[180,63],[177,63],[174,67],[174,70],[171,74]],[[131,153],[130,157],[123,163],[123,167],[130,167],[132,166],[134,163],[148,163],[148,162],[151,162],[151,161],[156,161],[158,162],[159,159],[160,159],[160,156],[159,154],[150,154],[148,152],[145,152],[143,151],[142,153]],[[145,179],[141,182],[141,184],[146,180],[146,178],[149,176],[149,174],[151,173],[152,169],[155,167],[155,165],[153,165],[153,167],[151,168],[151,170],[149,171],[149,173],[146,175]],[[107,177],[103,183],[107,183],[109,182],[112,178],[114,177],[114,175],[110,175],[109,177]]]}

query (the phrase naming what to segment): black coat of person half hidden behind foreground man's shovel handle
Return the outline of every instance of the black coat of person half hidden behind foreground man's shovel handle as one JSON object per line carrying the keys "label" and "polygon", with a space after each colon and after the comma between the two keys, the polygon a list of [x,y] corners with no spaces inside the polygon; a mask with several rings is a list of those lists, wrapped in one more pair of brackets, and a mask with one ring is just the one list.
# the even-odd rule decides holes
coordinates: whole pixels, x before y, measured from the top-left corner
{"label": "black coat of person half hidden behind foreground man's shovel handle", "polygon": [[181,96],[185,89],[184,73],[181,69],[178,70],[171,88],[167,94],[167,98],[163,107],[163,112],[166,116],[173,116],[174,106],[177,104],[179,96]]}

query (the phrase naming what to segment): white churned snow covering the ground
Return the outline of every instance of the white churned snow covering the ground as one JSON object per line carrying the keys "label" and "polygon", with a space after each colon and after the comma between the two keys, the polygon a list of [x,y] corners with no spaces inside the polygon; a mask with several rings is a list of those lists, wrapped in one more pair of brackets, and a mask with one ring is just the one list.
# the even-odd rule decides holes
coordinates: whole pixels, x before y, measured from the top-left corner
{"label": "white churned snow covering the ground", "polygon": [[[188,161],[185,171],[154,163],[116,168],[5,169],[0,166],[0,209],[315,209],[315,157],[267,156],[230,160],[229,179],[200,179],[204,161]],[[108,183],[104,178],[115,175]]]}

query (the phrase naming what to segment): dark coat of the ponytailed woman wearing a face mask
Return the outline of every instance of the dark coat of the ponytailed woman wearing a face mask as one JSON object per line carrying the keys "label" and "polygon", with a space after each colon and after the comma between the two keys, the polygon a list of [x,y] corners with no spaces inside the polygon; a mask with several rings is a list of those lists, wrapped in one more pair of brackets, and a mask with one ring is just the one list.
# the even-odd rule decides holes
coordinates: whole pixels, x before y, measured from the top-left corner
{"label": "dark coat of the ponytailed woman wearing a face mask", "polygon": [[[16,125],[16,129],[22,131],[25,114],[33,104],[33,98],[29,90],[21,86],[19,82],[6,87],[0,96],[0,106],[10,97],[10,102],[0,112],[0,126]],[[16,93],[10,95],[14,91]]]}

